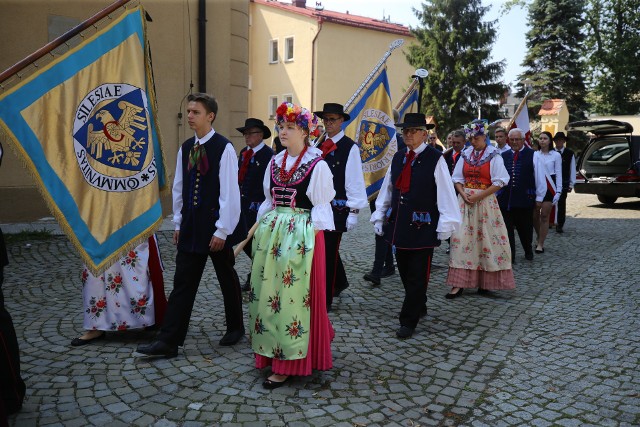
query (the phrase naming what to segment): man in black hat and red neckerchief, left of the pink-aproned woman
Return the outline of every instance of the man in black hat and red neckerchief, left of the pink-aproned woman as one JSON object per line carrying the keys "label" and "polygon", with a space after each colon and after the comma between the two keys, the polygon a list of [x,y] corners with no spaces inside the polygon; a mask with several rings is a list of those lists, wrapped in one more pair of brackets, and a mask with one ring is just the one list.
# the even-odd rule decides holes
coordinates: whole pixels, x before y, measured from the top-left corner
{"label": "man in black hat and red neckerchief, left of the pink-aproned woman", "polygon": [[[405,150],[387,169],[371,222],[396,252],[405,297],[398,338],[409,338],[426,314],[433,248],[462,223],[458,199],[442,153],[426,143],[424,114],[408,113],[402,128]],[[387,213],[388,212],[388,213]]]}

